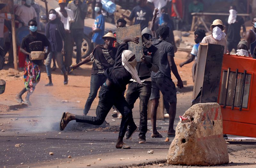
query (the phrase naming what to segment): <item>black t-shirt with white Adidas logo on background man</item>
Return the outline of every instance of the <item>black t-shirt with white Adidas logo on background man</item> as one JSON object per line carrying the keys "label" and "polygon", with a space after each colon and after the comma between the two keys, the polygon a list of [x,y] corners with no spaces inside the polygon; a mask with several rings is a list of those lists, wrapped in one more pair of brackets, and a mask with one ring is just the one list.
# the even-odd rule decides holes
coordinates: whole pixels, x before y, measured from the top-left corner
{"label": "black t-shirt with white Adidas logo on background man", "polygon": [[132,13],[130,15],[130,19],[132,20],[135,17],[135,24],[140,24],[140,29],[143,30],[145,27],[148,27],[148,22],[153,17],[153,11],[150,10],[149,7],[144,6],[135,6],[132,9]]}

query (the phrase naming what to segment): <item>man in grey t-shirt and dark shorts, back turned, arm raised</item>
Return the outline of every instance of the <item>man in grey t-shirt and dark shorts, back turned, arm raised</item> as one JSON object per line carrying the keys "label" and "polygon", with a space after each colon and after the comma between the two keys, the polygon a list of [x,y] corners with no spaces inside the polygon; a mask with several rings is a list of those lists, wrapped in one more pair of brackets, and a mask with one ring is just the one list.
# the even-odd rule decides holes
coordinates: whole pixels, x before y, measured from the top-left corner
{"label": "man in grey t-shirt and dark shorts, back turned, arm raised", "polygon": [[[154,24],[154,19],[152,21]],[[159,71],[157,73],[152,72],[152,89],[149,100],[152,100],[151,103],[151,123],[153,132],[151,137],[162,137],[162,135],[156,130],[156,110],[159,104],[160,94],[159,91],[164,96],[164,100],[169,102],[169,129],[168,137],[175,136],[175,130],[173,129],[174,119],[176,115],[176,87],[171,78],[171,71],[178,80],[177,86],[183,88],[183,82],[178,73],[177,67],[174,62],[174,48],[171,43],[165,41],[170,32],[170,28],[166,25],[159,26],[157,30],[159,39],[152,39],[152,45],[158,49],[159,52]]]}

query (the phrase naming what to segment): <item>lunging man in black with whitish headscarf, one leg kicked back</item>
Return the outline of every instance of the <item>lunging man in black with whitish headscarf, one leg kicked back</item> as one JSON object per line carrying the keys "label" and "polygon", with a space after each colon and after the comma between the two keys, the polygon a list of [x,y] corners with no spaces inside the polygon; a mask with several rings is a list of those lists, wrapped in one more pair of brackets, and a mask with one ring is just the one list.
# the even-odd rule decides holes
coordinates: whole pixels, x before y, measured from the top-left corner
{"label": "lunging man in black with whitish headscarf, one leg kicked back", "polygon": [[122,92],[125,90],[126,85],[131,79],[134,79],[141,84],[138,72],[135,68],[137,65],[135,55],[128,50],[128,42],[133,41],[134,43],[138,44],[139,37],[128,37],[123,41],[124,42],[118,47],[115,65],[112,68],[108,68],[104,73],[107,80],[100,88],[99,104],[96,108],[96,117],[88,115],[74,115],[68,112],[63,113],[60,121],[60,130],[65,129],[68,122],[71,120],[101,125],[108,115],[109,110],[113,105],[115,105],[123,116],[120,124],[119,136],[116,142],[116,148],[130,149],[130,146],[123,143],[124,134],[126,132],[128,123],[132,126],[132,128],[137,128],[137,126],[132,119],[132,110],[129,104],[125,101]]}

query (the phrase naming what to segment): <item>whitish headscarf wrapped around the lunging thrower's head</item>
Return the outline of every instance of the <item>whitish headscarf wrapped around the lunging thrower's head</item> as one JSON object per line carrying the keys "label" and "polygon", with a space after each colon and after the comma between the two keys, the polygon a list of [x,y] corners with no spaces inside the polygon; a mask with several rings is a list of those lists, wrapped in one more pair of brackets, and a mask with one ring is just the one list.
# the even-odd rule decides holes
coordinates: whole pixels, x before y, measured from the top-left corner
{"label": "whitish headscarf wrapped around the lunging thrower's head", "polygon": [[137,81],[139,84],[142,84],[138,76],[138,72],[135,68],[135,66],[137,65],[136,59],[128,62],[128,60],[132,58],[133,55],[134,53],[132,53],[132,51],[124,50],[122,53],[122,65],[132,75],[132,79]]}

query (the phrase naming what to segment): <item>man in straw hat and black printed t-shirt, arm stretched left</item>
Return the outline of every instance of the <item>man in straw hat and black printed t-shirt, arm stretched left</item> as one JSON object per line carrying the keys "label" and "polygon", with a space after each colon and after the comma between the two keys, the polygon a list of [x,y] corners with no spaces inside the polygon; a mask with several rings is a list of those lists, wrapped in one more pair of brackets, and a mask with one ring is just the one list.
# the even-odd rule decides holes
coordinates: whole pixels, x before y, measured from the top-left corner
{"label": "man in straw hat and black printed t-shirt, arm stretched left", "polygon": [[93,61],[90,93],[84,105],[84,115],[87,115],[93,100],[97,96],[100,86],[107,79],[104,72],[107,68],[113,67],[115,63],[117,48],[113,47],[113,43],[114,40],[116,40],[116,37],[109,31],[102,37],[102,39],[105,41],[104,45],[97,45],[89,57],[86,57],[80,63],[70,67],[71,69],[75,69],[83,64]]}

